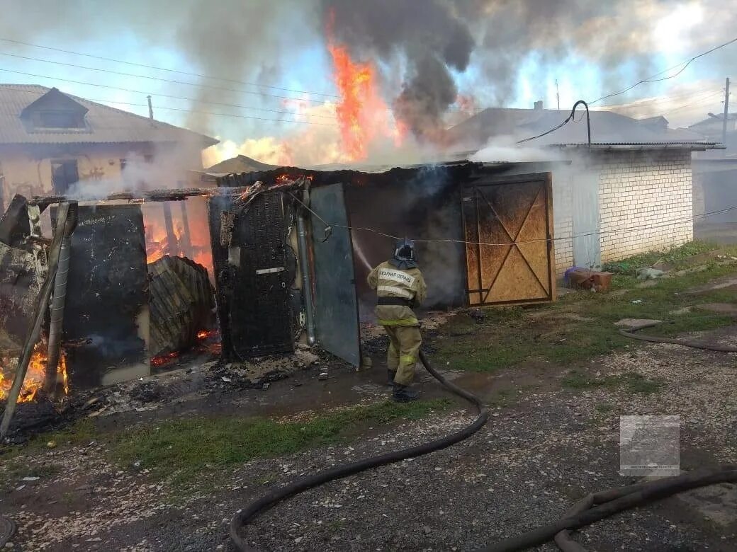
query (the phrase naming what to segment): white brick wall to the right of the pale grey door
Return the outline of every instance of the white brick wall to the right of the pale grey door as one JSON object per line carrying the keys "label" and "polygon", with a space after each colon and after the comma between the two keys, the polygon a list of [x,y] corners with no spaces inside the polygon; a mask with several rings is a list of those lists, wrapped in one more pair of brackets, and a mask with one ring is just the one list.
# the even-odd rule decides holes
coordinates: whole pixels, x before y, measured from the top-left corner
{"label": "white brick wall to the right of the pale grey door", "polygon": [[694,239],[691,152],[597,152],[601,261]]}

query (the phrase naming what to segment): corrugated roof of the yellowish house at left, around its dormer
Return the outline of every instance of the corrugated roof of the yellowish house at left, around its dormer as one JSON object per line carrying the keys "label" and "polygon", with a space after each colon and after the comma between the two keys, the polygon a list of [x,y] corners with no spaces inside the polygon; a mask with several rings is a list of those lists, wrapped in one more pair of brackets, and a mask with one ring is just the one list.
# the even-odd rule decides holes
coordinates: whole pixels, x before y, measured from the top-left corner
{"label": "corrugated roof of the yellowish house at left, around its dormer", "polygon": [[88,109],[86,128],[41,130],[29,132],[20,115],[25,107],[51,91],[39,85],[0,84],[0,144],[113,144],[135,142],[185,142],[195,141],[202,147],[213,146],[217,140],[172,124],[152,121],[134,113],[128,113],[65,94]]}

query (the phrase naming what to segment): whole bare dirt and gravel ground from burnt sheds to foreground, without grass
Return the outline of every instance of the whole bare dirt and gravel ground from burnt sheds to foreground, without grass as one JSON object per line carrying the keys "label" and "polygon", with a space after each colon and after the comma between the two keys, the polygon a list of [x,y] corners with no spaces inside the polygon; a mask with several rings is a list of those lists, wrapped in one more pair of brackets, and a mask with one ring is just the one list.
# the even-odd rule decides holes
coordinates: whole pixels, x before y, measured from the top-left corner
{"label": "whole bare dirt and gravel ground from burnt sheds to foreground, without grass", "polygon": [[[572,316],[573,311],[562,312]],[[531,310],[523,316],[520,323],[531,325],[542,315]],[[245,530],[255,548],[467,551],[520,534],[557,519],[589,492],[637,480],[619,475],[621,415],[680,416],[682,470],[737,461],[737,355],[628,342],[575,361],[533,358],[506,369],[458,371],[446,360],[449,343],[452,349],[453,340],[484,334],[476,333],[480,330],[467,314],[433,322],[426,328],[431,357],[442,358],[440,367],[449,378],[489,403],[489,423],[459,445],[287,500]],[[206,379],[198,376],[204,368],[194,367],[185,374],[186,385],[169,376],[179,382],[172,384],[179,392],[167,400],[131,408],[118,404],[113,414],[94,417],[99,437],[89,442],[67,444],[52,434],[43,441],[59,439],[54,448],[27,446],[0,456],[0,515],[18,526],[7,550],[231,551],[229,520],[271,486],[425,442],[473,419],[475,412],[453,400],[421,420],[359,424],[345,439],[226,469],[213,466],[185,484],[140,463],[111,460],[105,431],[143,431],[161,420],[200,415],[309,419],[382,403],[388,395],[385,342],[380,333],[366,335],[370,369],[356,372],[321,361],[267,389],[205,389],[198,384]],[[737,345],[737,325],[696,335]],[[321,372],[329,378],[319,379]],[[448,396],[424,372],[420,381],[425,399]],[[169,385],[163,376],[158,382]],[[34,475],[24,481],[28,473]],[[591,551],[734,551],[737,489],[722,485],[689,492],[575,536]]]}

